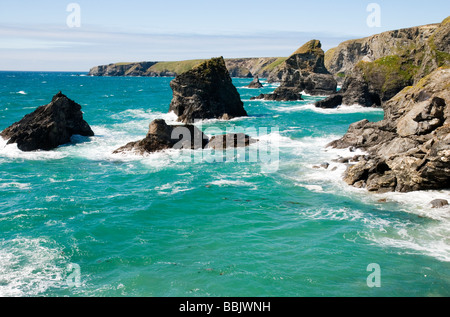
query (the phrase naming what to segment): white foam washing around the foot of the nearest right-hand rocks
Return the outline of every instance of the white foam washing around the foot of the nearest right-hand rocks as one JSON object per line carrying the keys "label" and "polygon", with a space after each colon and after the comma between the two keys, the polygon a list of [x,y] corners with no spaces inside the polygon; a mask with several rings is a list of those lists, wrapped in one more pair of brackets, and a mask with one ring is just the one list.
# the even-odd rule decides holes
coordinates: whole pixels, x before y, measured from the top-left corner
{"label": "white foam washing around the foot of the nearest right-hand rocks", "polygon": [[[359,238],[371,241],[380,247],[398,249],[399,253],[425,254],[450,262],[450,241],[448,240],[450,206],[432,208],[430,204],[432,200],[438,198],[450,200],[450,191],[373,194],[365,189],[349,186],[343,181],[343,173],[347,166],[332,160],[339,156],[352,157],[364,152],[326,148],[330,141],[337,138],[339,137],[329,136],[284,142],[285,146],[292,147],[290,153],[299,157],[297,173],[292,173],[294,165],[291,164],[287,169],[289,172],[284,177],[292,180],[296,186],[310,191],[330,193],[336,197],[348,197],[355,202],[359,201],[376,207],[380,210],[379,213],[384,215],[392,214],[385,217],[376,212],[364,212],[351,208],[339,210],[313,208],[310,211],[302,211],[302,215],[312,219],[357,221],[365,228],[359,232]],[[284,150],[287,151],[288,148]],[[322,162],[330,165],[328,168],[321,167]],[[410,214],[412,218],[405,220],[402,213]]]}

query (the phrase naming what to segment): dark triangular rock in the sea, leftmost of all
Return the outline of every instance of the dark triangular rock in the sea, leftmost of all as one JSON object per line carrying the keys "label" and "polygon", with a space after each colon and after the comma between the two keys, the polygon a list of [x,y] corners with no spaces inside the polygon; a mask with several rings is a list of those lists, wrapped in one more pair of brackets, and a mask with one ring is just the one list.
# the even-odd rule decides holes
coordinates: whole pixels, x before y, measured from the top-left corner
{"label": "dark triangular rock in the sea, leftmost of all", "polygon": [[75,134],[93,136],[94,132],[84,121],[81,106],[59,92],[48,105],[27,114],[0,136],[8,144],[17,143],[22,151],[49,151],[69,143]]}

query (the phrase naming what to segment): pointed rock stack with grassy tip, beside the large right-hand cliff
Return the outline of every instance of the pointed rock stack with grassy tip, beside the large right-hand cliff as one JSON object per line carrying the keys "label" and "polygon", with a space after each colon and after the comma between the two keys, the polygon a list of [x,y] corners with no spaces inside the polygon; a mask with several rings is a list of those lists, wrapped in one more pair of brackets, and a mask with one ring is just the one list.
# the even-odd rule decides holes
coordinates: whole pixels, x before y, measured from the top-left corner
{"label": "pointed rock stack with grassy tip, beside the large right-hand cliff", "polygon": [[[330,95],[336,92],[337,82],[325,68],[322,45],[312,40],[295,51],[268,77],[269,82],[280,82],[275,97],[267,100],[301,100],[302,92],[310,95]],[[260,96],[261,97],[261,96]]]}

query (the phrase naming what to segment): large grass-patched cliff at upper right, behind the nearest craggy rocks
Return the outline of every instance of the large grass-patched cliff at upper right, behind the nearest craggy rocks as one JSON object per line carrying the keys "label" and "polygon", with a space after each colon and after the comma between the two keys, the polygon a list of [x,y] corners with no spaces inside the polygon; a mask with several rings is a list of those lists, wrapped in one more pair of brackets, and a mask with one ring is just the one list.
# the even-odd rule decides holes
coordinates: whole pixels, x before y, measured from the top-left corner
{"label": "large grass-patched cliff at upper right, behind the nearest craggy rocks", "polygon": [[449,21],[346,41],[331,49],[326,66],[343,86],[339,97],[333,95],[316,106],[381,106],[438,67],[450,66]]}

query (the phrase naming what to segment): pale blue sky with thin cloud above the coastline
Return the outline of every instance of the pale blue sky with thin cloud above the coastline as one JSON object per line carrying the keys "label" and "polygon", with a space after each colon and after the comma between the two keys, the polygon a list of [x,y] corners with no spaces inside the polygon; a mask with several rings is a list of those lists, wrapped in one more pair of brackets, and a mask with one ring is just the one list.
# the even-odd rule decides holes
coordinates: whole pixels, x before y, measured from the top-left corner
{"label": "pale blue sky with thin cloud above the coastline", "polygon": [[448,0],[0,0],[0,70],[289,56],[449,15]]}

